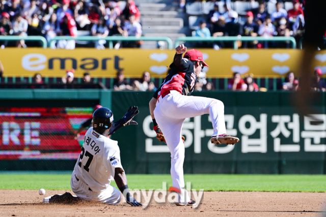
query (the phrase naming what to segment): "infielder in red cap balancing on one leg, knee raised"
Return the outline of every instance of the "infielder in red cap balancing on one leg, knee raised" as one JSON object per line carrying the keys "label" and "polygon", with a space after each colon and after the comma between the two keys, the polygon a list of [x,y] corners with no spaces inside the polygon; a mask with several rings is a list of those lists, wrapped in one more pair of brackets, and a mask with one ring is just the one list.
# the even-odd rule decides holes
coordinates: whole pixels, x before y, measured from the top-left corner
{"label": "infielder in red cap balancing on one leg, knee raised", "polygon": [[[226,134],[224,104],[216,99],[190,97],[199,78],[199,73],[208,65],[199,50],[189,50],[182,44],[176,49],[172,69],[156,90],[149,103],[154,130],[160,141],[165,141],[171,152],[171,176],[173,187],[180,190],[176,205],[194,205],[184,188],[183,161],[184,143],[181,136],[183,121],[188,117],[209,114],[213,125],[210,139],[215,145],[232,144],[239,141],[237,137]],[[186,53],[185,53],[186,52]],[[184,54],[182,58],[182,54]]]}

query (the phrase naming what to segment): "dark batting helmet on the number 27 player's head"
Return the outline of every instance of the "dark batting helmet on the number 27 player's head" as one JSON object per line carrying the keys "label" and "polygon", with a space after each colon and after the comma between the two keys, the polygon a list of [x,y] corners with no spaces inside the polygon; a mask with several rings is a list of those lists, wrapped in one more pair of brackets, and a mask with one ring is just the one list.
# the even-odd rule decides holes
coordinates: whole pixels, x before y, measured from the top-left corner
{"label": "dark batting helmet on the number 27 player's head", "polygon": [[92,126],[96,130],[106,130],[111,128],[113,120],[113,113],[110,109],[98,108],[93,113]]}

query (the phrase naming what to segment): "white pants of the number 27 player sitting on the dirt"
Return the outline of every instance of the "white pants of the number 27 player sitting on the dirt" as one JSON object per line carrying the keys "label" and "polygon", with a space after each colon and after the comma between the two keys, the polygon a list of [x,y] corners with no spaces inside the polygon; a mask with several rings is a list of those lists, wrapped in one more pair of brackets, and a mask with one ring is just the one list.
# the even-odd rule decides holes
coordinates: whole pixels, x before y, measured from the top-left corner
{"label": "white pants of the number 27 player sitting on the dirt", "polygon": [[108,185],[108,188],[103,192],[93,192],[89,190],[89,187],[82,180],[76,179],[74,172],[70,179],[70,186],[72,192],[75,193],[79,198],[90,201],[97,201],[101,203],[107,203],[116,205],[121,201],[121,193],[118,189]]}

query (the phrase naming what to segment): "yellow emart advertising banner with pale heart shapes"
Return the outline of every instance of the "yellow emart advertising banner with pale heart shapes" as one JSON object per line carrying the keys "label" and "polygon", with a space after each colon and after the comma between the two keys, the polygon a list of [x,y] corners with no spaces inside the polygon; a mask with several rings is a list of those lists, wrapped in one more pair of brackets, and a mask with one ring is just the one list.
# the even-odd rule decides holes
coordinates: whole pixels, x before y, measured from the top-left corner
{"label": "yellow emart advertising banner with pale heart shapes", "polygon": [[[200,49],[209,65],[203,71],[207,77],[231,77],[233,72],[255,77],[282,77],[289,71],[298,75],[302,50],[295,49]],[[65,76],[67,69],[75,70],[75,77],[89,72],[92,77],[115,77],[124,70],[126,77],[141,77],[144,71],[152,77],[165,77],[173,61],[174,50],[120,49],[52,50],[43,48],[6,48],[0,50],[4,76],[29,77],[41,73],[47,77]],[[314,68],[326,73],[326,51],[315,55]],[[313,70],[313,69],[312,69]]]}

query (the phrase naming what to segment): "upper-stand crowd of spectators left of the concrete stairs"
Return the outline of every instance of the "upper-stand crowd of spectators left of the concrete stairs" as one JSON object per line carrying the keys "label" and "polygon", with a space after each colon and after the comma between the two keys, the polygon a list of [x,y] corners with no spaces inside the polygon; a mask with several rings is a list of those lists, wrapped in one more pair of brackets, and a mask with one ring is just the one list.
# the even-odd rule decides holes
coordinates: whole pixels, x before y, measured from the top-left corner
{"label": "upper-stand crowd of spectators left of the concrete stairs", "polygon": [[[44,36],[48,42],[56,36],[77,36],[77,30],[87,30],[92,36],[142,35],[140,11],[133,0],[127,0],[122,10],[120,2],[109,0],[8,0],[0,2],[0,35]],[[9,42],[0,42],[2,48]],[[106,41],[95,47],[103,49]],[[17,47],[26,47],[24,40]],[[53,48],[74,49],[74,40],[60,40]],[[116,48],[121,43],[116,43]],[[123,46],[139,46],[126,43]]]}

